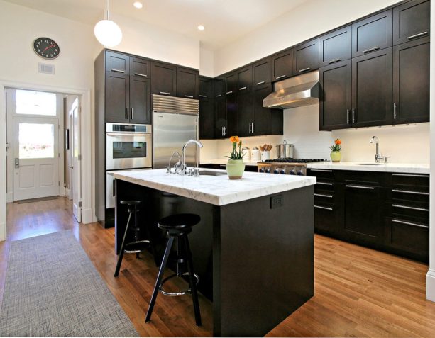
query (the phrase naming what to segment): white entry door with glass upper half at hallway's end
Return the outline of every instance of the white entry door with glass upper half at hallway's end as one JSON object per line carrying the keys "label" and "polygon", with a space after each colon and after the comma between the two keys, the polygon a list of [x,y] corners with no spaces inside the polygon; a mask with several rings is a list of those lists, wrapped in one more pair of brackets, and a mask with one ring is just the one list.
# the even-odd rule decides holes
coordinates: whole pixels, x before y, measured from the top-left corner
{"label": "white entry door with glass upper half at hallway's end", "polygon": [[13,118],[13,200],[59,195],[57,118]]}

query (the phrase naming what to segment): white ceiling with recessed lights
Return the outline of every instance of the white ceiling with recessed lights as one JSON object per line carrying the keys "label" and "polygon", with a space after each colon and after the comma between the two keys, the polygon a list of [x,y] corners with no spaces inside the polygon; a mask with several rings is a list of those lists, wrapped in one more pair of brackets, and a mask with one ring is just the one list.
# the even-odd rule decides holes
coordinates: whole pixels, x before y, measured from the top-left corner
{"label": "white ceiling with recessed lights", "polygon": [[[106,0],[5,0],[94,25]],[[110,12],[198,39],[216,50],[310,0],[110,0]],[[205,30],[200,32],[197,26]],[[122,27],[121,27],[122,29]]]}

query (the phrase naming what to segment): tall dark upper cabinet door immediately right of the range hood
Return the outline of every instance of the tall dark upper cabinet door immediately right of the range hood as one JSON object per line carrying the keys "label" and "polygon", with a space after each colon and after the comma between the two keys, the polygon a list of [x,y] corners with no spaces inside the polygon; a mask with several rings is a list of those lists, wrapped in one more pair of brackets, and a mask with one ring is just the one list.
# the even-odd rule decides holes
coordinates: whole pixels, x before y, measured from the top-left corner
{"label": "tall dark upper cabinet door immediately right of the range hood", "polygon": [[322,67],[319,80],[319,129],[350,128],[352,125],[351,60]]}

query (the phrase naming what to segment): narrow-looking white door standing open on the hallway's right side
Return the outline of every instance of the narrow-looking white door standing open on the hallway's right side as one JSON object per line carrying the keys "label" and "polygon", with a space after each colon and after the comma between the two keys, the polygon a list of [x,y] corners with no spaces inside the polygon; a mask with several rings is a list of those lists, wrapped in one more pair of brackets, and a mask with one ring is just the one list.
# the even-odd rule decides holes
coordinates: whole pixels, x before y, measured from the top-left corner
{"label": "narrow-looking white door standing open on the hallway's right side", "polygon": [[82,157],[80,153],[80,107],[76,98],[72,105],[72,213],[82,222]]}

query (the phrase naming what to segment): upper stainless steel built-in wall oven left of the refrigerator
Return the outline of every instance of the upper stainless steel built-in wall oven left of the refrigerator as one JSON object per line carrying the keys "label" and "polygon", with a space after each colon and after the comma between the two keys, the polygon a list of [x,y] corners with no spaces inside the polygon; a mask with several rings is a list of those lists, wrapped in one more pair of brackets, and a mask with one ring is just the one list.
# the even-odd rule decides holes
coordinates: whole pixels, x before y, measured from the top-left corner
{"label": "upper stainless steel built-in wall oven left of the refrigerator", "polygon": [[106,170],[153,165],[151,125],[106,123]]}

